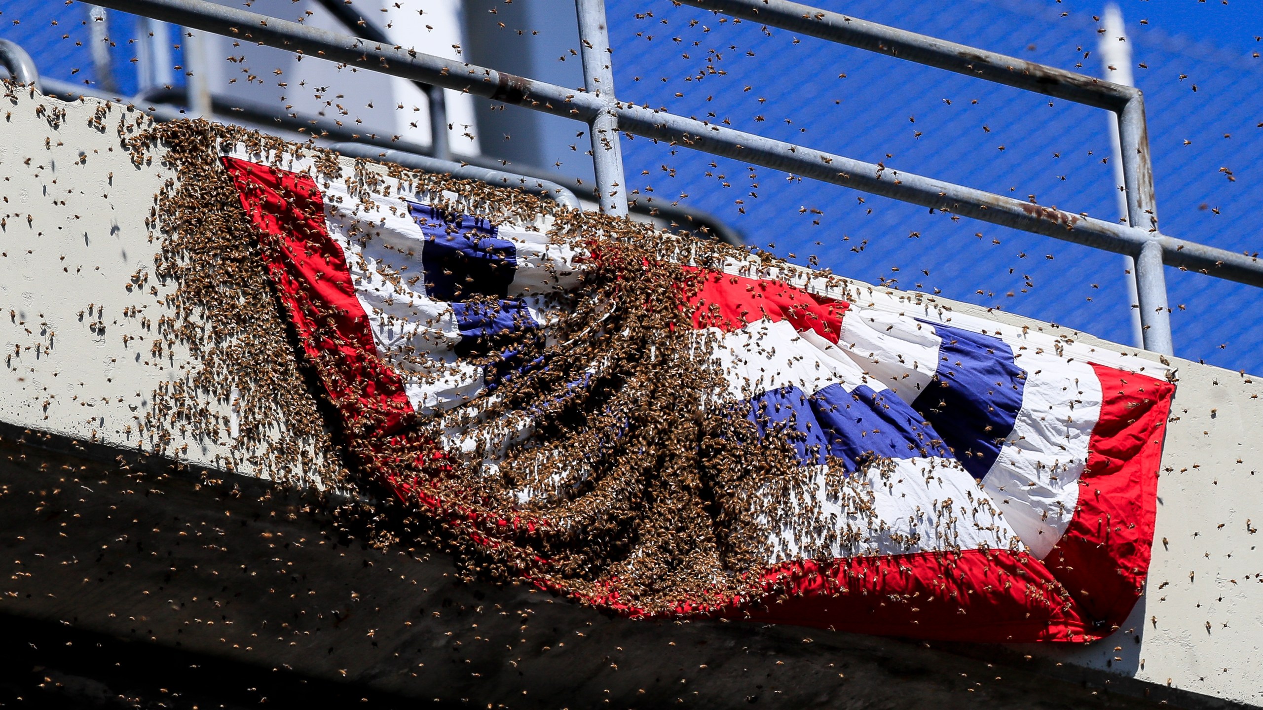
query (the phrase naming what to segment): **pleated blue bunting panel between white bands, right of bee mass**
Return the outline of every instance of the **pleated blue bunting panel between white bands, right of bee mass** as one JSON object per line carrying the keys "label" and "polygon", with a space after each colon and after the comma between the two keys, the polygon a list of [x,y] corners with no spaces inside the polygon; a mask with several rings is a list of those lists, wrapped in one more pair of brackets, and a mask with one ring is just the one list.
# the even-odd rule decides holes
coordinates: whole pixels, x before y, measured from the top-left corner
{"label": "pleated blue bunting panel between white bands, right of bee mass", "polygon": [[796,387],[764,392],[750,399],[750,419],[760,435],[783,431],[802,465],[841,460],[846,471],[877,455],[887,459],[945,457],[951,455],[921,414],[889,390],[865,385],[846,392],[831,384],[815,394]]}

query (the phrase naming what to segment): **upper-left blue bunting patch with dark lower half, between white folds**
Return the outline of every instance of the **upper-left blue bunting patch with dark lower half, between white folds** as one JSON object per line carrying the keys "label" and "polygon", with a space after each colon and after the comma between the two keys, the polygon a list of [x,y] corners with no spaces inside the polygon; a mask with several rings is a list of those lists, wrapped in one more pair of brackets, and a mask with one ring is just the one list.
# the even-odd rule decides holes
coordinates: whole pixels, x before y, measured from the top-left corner
{"label": "upper-left blue bunting patch with dark lower half, between white folds", "polygon": [[442,210],[408,202],[426,235],[421,265],[426,293],[437,301],[465,301],[470,296],[504,298],[518,268],[518,250],[499,239],[495,225],[481,217],[448,217]]}

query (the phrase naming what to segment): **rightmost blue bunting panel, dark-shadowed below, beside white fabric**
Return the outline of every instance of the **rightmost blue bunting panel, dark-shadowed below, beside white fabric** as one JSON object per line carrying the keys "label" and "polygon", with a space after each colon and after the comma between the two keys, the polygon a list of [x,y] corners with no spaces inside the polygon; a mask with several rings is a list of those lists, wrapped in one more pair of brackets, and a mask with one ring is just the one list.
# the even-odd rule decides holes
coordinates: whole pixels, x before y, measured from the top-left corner
{"label": "rightmost blue bunting panel, dark-shadowed below, beside white fabric", "polygon": [[1013,431],[1022,408],[1026,370],[1014,361],[1013,349],[998,337],[930,325],[942,337],[938,368],[935,382],[912,406],[965,469],[980,479]]}

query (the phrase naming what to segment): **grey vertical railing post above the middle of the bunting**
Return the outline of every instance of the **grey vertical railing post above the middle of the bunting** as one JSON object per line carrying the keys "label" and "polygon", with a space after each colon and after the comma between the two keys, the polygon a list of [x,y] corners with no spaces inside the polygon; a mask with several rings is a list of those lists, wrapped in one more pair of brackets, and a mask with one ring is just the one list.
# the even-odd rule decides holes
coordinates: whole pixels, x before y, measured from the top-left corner
{"label": "grey vertical railing post above the middle of the bunting", "polygon": [[584,88],[605,100],[606,109],[589,124],[592,140],[592,168],[596,196],[608,215],[628,214],[628,195],[623,176],[623,149],[619,121],[614,111],[614,71],[610,35],[605,24],[605,0],[575,0],[578,13],[580,59],[584,63]]}

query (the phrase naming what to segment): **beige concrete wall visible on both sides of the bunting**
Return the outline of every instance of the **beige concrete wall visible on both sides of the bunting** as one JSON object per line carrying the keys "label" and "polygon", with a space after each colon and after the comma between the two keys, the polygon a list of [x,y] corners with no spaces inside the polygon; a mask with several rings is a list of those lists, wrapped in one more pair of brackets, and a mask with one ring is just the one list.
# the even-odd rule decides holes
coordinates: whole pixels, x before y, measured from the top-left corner
{"label": "beige concrete wall visible on both sides of the bunting", "polygon": [[[145,320],[169,315],[164,296],[174,284],[145,279],[157,249],[145,220],[154,193],[173,176],[158,160],[134,164],[123,149],[126,126],[144,121],[131,109],[91,100],[62,104],[11,86],[4,101],[0,423],[136,447],[136,427],[153,407],[154,393],[163,383],[187,380],[198,366],[187,352],[160,360],[149,354],[154,335]],[[928,299],[878,294],[895,302]],[[1153,358],[1050,323],[937,303],[1081,345]],[[1254,532],[1263,526],[1263,440],[1254,435],[1263,423],[1263,384],[1187,360],[1173,359],[1172,366],[1178,388],[1158,490],[1153,566],[1132,618],[1087,647],[962,653],[1029,654],[1053,675],[1100,670],[1120,683],[1137,678],[1196,694],[1185,697],[1263,706],[1263,671],[1253,663],[1263,643],[1263,552]],[[230,417],[230,393],[213,393],[212,399],[212,407]],[[328,464],[336,455],[327,442],[294,440],[283,418],[270,432],[307,451],[311,466],[336,465]],[[189,462],[230,462],[242,472],[264,470],[263,450],[270,446],[251,448],[227,438],[186,442]]]}

